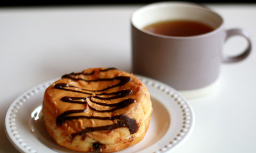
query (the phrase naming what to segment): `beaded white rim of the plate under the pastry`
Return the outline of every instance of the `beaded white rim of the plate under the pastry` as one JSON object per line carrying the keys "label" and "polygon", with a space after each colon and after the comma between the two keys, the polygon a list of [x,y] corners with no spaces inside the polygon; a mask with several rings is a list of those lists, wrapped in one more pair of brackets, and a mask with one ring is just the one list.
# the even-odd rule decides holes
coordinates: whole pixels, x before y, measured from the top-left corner
{"label": "beaded white rim of the plate under the pastry", "polygon": [[[183,121],[183,126],[180,129],[179,133],[176,133],[177,135],[175,138],[170,138],[168,142],[161,142],[162,147],[159,147],[157,150],[153,150],[153,153],[163,153],[163,152],[170,152],[173,149],[176,149],[178,146],[180,146],[182,143],[184,143],[188,137],[191,135],[193,128],[195,126],[195,115],[193,112],[193,108],[189,104],[188,100],[184,98],[182,95],[179,94],[175,89],[170,87],[169,85],[166,85],[162,82],[159,82],[157,80],[154,80],[152,78],[144,77],[141,75],[135,75],[136,77],[140,78],[140,80],[143,82],[143,84],[146,85],[148,88],[148,91],[151,90],[157,90],[159,92],[163,92],[165,96],[169,96],[170,99],[172,99],[172,102],[175,103],[175,105],[180,107],[180,110],[185,114],[181,120]],[[47,82],[44,82],[43,84],[36,85],[35,87],[29,89],[28,91],[24,92],[21,94],[13,103],[10,105],[6,112],[6,117],[4,120],[4,131],[6,133],[6,136],[12,143],[12,145],[19,150],[20,152],[28,152],[28,153],[35,153],[36,150],[33,148],[36,147],[30,147],[29,145],[26,144],[26,142],[22,142],[22,138],[20,138],[19,135],[15,135],[19,132],[17,132],[17,128],[15,127],[15,113],[19,112],[19,106],[22,106],[22,103],[26,102],[26,99],[29,99],[29,96],[34,96],[37,94],[37,92],[41,91],[44,92],[44,90],[51,85],[53,82],[58,80],[60,78],[52,79]],[[157,97],[157,95],[154,95],[154,93],[150,93],[153,97]],[[166,102],[160,101],[163,105],[166,104]],[[170,105],[170,104],[167,104]],[[184,107],[184,108],[182,108]],[[168,111],[170,110],[169,108],[166,108]],[[17,111],[17,112],[15,112]],[[187,115],[186,115],[187,114]],[[172,121],[171,121],[172,122]],[[13,124],[14,123],[14,124]],[[9,127],[9,128],[7,128]],[[11,128],[12,127],[12,128]],[[170,129],[170,128],[169,128]],[[166,131],[164,136],[169,136],[171,131],[168,130]],[[33,136],[33,135],[31,135]],[[162,139],[162,138],[161,138]],[[161,140],[160,139],[160,140]],[[159,140],[159,142],[160,142]],[[139,144],[139,143],[138,143]],[[138,145],[137,144],[137,145]],[[44,145],[44,144],[42,144]],[[154,144],[155,145],[155,144]],[[47,146],[46,146],[47,147]],[[156,146],[153,146],[156,148]],[[152,147],[148,147],[143,150],[139,150],[140,153],[148,153],[148,150],[152,152]],[[52,150],[52,152],[55,152]],[[122,152],[122,151],[120,151]],[[49,152],[50,153],[50,152]]]}

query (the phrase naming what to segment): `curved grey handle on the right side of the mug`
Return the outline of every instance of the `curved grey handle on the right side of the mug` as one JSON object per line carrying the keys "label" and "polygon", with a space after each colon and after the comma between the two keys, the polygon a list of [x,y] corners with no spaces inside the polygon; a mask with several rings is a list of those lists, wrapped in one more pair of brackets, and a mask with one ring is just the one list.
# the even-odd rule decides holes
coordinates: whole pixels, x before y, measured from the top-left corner
{"label": "curved grey handle on the right side of the mug", "polygon": [[230,29],[230,30],[226,31],[226,34],[227,35],[226,35],[225,41],[227,41],[228,38],[230,38],[232,36],[242,36],[248,42],[248,46],[239,55],[235,55],[235,56],[225,56],[225,55],[223,55],[222,62],[225,62],[225,63],[239,62],[239,61],[242,61],[243,59],[245,59],[250,54],[250,52],[252,50],[252,42],[250,40],[249,34],[246,31],[242,30],[242,29]]}

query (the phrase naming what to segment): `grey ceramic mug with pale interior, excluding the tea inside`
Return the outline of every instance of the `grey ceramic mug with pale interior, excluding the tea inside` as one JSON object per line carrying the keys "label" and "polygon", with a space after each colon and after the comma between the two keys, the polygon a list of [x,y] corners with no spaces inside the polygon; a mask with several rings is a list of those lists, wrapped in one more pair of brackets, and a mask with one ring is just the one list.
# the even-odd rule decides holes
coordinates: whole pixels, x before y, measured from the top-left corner
{"label": "grey ceramic mug with pale interior, excluding the tea inside", "polygon": [[[165,36],[143,27],[164,20],[195,20],[214,28],[196,36]],[[242,36],[247,48],[237,56],[223,55],[223,44],[232,36]],[[154,78],[180,92],[202,91],[217,80],[223,62],[245,59],[252,49],[248,33],[225,30],[223,18],[193,3],[154,3],[132,13],[132,72]],[[195,92],[194,92],[195,94]]]}

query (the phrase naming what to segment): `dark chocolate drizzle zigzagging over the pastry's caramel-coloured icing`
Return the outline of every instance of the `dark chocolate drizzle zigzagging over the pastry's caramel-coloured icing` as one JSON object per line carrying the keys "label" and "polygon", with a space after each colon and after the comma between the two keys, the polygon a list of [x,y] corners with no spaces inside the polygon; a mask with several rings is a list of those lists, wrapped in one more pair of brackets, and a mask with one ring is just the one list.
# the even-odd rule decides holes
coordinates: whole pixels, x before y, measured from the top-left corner
{"label": "dark chocolate drizzle zigzagging over the pastry's caramel-coloured icing", "polygon": [[[100,69],[100,73],[104,73],[106,71],[113,70],[115,68],[108,68],[108,69]],[[91,73],[70,73],[69,75],[63,75],[62,78],[68,78],[74,81],[82,81],[82,82],[113,82],[114,80],[119,80],[117,84],[109,85],[108,87],[103,87],[102,89],[97,90],[89,90],[89,89],[81,89],[80,87],[76,87],[73,85],[68,85],[65,83],[60,83],[54,85],[54,88],[64,90],[64,91],[70,91],[70,92],[78,92],[85,94],[84,97],[68,97],[64,96],[61,98],[61,101],[65,103],[76,103],[85,105],[86,108],[84,110],[68,110],[61,115],[59,115],[56,119],[57,126],[61,126],[61,124],[64,124],[67,122],[67,120],[77,120],[77,119],[99,119],[99,120],[116,120],[114,124],[105,125],[105,126],[97,126],[97,127],[88,127],[86,129],[83,129],[83,131],[80,131],[78,133],[73,133],[71,140],[73,140],[77,135],[81,135],[82,138],[85,138],[85,133],[93,132],[93,131],[104,131],[104,130],[112,130],[117,128],[128,128],[130,133],[136,133],[138,131],[138,125],[136,123],[135,119],[129,118],[125,114],[120,115],[114,115],[111,117],[100,117],[100,116],[86,116],[86,115],[72,115],[73,113],[83,113],[86,112],[87,109],[93,110],[95,112],[115,112],[116,110],[120,110],[122,108],[125,108],[132,103],[136,103],[135,99],[127,98],[122,101],[119,101],[118,103],[104,103],[102,101],[111,101],[111,99],[118,99],[118,98],[125,98],[126,96],[129,96],[132,93],[131,89],[126,89],[123,91],[116,91],[116,92],[107,92],[108,89],[113,89],[115,87],[120,87],[124,84],[127,84],[128,82],[131,82],[131,77],[125,77],[125,76],[118,76],[114,78],[98,78],[95,80],[86,80],[84,78],[79,77],[80,75],[94,75],[95,71],[92,71]],[[106,96],[106,97],[105,97]],[[100,105],[100,106],[107,106],[108,109],[105,110],[97,110],[97,108],[94,108],[93,105]],[[97,150],[98,145],[95,145],[95,149]]]}

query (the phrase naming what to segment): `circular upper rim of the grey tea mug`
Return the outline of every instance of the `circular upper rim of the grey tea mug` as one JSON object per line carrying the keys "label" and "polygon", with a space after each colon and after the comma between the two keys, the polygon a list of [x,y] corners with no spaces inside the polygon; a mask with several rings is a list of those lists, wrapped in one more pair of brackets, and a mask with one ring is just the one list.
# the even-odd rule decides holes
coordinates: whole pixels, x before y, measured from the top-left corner
{"label": "circular upper rim of the grey tea mug", "polygon": [[[164,35],[164,34],[156,34],[156,33],[150,32],[150,31],[145,31],[145,30],[137,27],[136,25],[134,25],[134,21],[133,21],[134,15],[136,13],[138,13],[139,11],[147,9],[147,8],[152,8],[152,7],[156,7],[156,6],[159,7],[159,6],[164,6],[164,5],[165,6],[166,5],[168,5],[168,6],[189,6],[191,8],[196,8],[196,9],[208,11],[209,13],[212,13],[212,14],[216,15],[217,17],[219,17],[220,20],[221,20],[221,24],[218,27],[214,28],[214,30],[209,32],[209,33],[198,34],[198,35],[193,35],[193,36],[168,36],[168,35]],[[151,3],[151,4],[147,4],[145,6],[142,6],[141,8],[138,8],[137,10],[135,10],[132,13],[130,21],[131,21],[132,27],[134,27],[135,29],[138,29],[139,31],[141,31],[141,33],[149,34],[150,36],[156,36],[156,37],[159,37],[159,38],[170,38],[170,39],[195,39],[195,38],[202,38],[202,37],[209,36],[209,35],[212,35],[214,33],[217,33],[218,31],[223,29],[223,26],[224,26],[223,17],[221,17],[221,15],[219,15],[215,11],[213,11],[213,10],[211,10],[209,8],[206,8],[205,6],[202,6],[200,4],[191,3],[191,2],[177,2],[177,1],[157,2],[157,3]]]}

